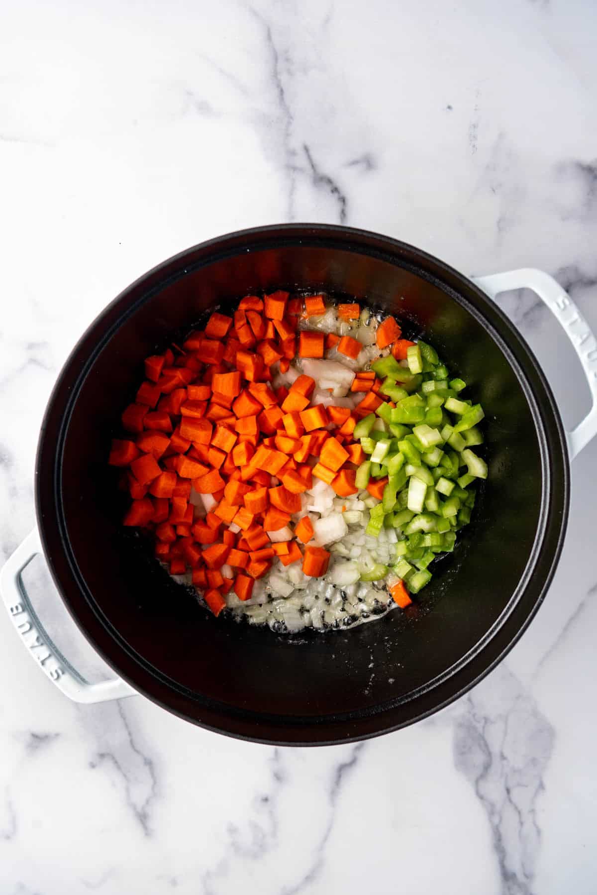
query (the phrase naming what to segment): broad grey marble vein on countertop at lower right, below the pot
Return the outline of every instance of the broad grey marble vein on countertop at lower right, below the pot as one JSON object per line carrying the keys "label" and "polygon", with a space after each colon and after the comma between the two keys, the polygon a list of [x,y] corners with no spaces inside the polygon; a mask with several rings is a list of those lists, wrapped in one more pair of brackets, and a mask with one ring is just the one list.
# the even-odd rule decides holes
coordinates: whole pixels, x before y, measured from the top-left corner
{"label": "broad grey marble vein on countertop at lower right, below the pot", "polygon": [[542,839],[537,799],[555,731],[503,664],[466,697],[464,708],[455,725],[456,768],[490,823],[501,891],[533,895]]}

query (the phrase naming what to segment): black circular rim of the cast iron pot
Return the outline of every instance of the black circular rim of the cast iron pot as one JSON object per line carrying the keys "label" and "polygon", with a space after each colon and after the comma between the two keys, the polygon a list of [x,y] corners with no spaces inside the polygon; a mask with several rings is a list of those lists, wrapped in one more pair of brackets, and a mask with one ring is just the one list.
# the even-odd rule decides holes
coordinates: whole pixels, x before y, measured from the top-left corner
{"label": "black circular rim of the cast iron pot", "polygon": [[[486,328],[491,329],[492,337],[499,342],[508,361],[519,368],[523,374],[521,381],[525,386],[525,392],[537,425],[544,470],[542,537],[537,538],[535,548],[525,568],[525,574],[504,613],[482,640],[475,645],[473,654],[469,653],[463,657],[439,680],[423,687],[420,693],[409,695],[407,704],[412,711],[408,717],[392,722],[388,717],[391,712],[381,708],[346,719],[338,717],[335,719],[337,729],[333,724],[331,726],[311,724],[308,736],[305,738],[303,738],[305,731],[301,724],[293,724],[280,718],[271,727],[272,730],[277,729],[279,734],[283,734],[277,738],[278,734],[272,736],[271,733],[260,733],[260,728],[264,725],[260,723],[259,718],[254,717],[254,713],[244,713],[247,720],[244,725],[242,719],[231,717],[233,712],[226,716],[226,712],[229,712],[227,706],[221,707],[221,716],[216,714],[216,722],[207,718],[199,720],[196,717],[191,717],[184,710],[184,701],[186,698],[187,703],[189,702],[189,695],[180,698],[180,693],[184,694],[185,692],[184,688],[174,687],[174,690],[179,691],[175,698],[173,682],[170,682],[169,678],[165,678],[160,684],[156,679],[155,672],[150,673],[148,669],[144,669],[138,661],[138,657],[133,658],[124,642],[117,643],[114,633],[107,629],[104,621],[98,617],[97,613],[90,612],[90,604],[81,593],[81,581],[78,580],[76,574],[76,562],[73,567],[73,558],[69,558],[67,575],[64,574],[64,563],[61,563],[60,568],[58,567],[57,557],[68,551],[58,511],[59,489],[54,488],[56,499],[55,506],[52,507],[48,500],[47,482],[49,478],[57,485],[59,480],[58,458],[61,454],[59,436],[60,433],[64,435],[67,428],[70,411],[81,383],[90,369],[94,356],[100,347],[109,341],[125,316],[132,314],[140,303],[145,302],[157,289],[163,288],[168,280],[183,276],[186,269],[200,267],[202,264],[210,263],[216,257],[234,255],[241,250],[250,251],[247,249],[247,244],[259,251],[272,245],[303,242],[321,243],[322,245],[334,243],[345,251],[364,251],[378,257],[387,256],[388,260],[395,262],[398,260],[402,267],[414,268],[419,276],[423,270],[427,273],[428,278],[438,281],[445,292],[451,294],[460,303],[464,303],[468,311],[482,320]],[[185,264],[187,261],[190,262],[188,265]],[[98,339],[98,333],[104,328],[106,331],[102,332]],[[533,385],[531,380],[534,380]],[[55,437],[56,433],[58,433],[58,439]],[[548,500],[549,506],[547,505]],[[143,274],[131,286],[127,286],[99,313],[64,363],[63,370],[47,404],[36,459],[38,527],[47,563],[64,604],[94,649],[107,661],[108,665],[115,669],[115,673],[119,677],[124,678],[135,690],[146,695],[167,711],[218,733],[277,746],[329,746],[380,736],[429,717],[475,686],[512,649],[539,609],[558,564],[567,527],[568,503],[569,464],[566,438],[559,411],[541,367],[529,346],[526,345],[524,338],[507,320],[506,315],[499,310],[496,304],[491,303],[488,296],[471,280],[430,254],[388,236],[337,225],[270,225],[217,236],[179,252]],[[547,531],[548,525],[550,526],[549,532]],[[535,596],[530,606],[521,611],[521,595],[528,589],[532,578]],[[156,694],[157,685],[162,688],[168,687],[166,697],[163,694]],[[422,697],[430,691],[438,696],[437,701],[431,707],[423,708],[421,706],[417,710],[416,703],[420,702]],[[252,714],[253,717],[251,717]],[[248,730],[243,729],[243,726]],[[267,722],[265,727],[269,727]]]}

